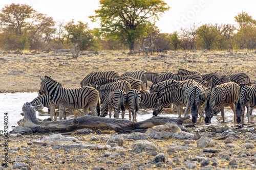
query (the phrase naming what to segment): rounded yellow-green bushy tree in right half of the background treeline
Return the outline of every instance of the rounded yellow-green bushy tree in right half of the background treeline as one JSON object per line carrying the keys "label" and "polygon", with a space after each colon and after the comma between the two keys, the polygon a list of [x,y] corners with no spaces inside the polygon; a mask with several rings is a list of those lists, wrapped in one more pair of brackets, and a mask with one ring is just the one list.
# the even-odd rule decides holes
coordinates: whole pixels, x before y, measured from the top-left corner
{"label": "rounded yellow-green bushy tree in right half of the background treeline", "polygon": [[209,24],[204,24],[199,27],[196,32],[199,39],[199,45],[210,51],[211,48],[215,45],[218,36],[216,27]]}

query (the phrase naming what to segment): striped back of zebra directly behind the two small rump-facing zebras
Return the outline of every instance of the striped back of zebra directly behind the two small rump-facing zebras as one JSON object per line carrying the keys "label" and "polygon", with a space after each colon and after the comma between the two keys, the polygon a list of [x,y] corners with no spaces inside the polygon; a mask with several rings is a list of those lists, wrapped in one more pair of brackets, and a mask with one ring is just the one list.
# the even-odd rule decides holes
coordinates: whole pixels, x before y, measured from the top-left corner
{"label": "striped back of zebra directly behind the two small rump-facing zebras", "polygon": [[114,82],[110,84],[104,84],[101,86],[96,86],[97,90],[104,90],[104,89],[115,89],[115,90],[123,90],[125,92],[131,90],[131,84],[126,81]]}

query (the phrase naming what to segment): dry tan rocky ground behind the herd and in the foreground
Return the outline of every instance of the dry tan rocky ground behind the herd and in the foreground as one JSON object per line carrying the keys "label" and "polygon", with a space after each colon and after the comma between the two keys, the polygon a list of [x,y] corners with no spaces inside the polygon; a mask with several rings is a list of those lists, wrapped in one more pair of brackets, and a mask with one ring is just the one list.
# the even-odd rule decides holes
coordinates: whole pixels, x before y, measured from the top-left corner
{"label": "dry tan rocky ground behind the herd and in the foreground", "polygon": [[[0,92],[38,91],[39,76],[51,76],[63,87],[79,87],[92,71],[144,69],[177,72],[179,68],[202,74],[247,73],[255,82],[253,52],[167,52],[127,56],[122,52],[84,54],[0,55]],[[31,133],[15,128],[8,139],[6,169],[255,169],[255,126],[242,128],[176,125],[157,126],[146,133],[117,134],[108,129],[82,129],[71,133]],[[1,134],[1,133],[0,133]],[[0,135],[1,163],[5,138]],[[0,167],[3,169],[3,167]]]}

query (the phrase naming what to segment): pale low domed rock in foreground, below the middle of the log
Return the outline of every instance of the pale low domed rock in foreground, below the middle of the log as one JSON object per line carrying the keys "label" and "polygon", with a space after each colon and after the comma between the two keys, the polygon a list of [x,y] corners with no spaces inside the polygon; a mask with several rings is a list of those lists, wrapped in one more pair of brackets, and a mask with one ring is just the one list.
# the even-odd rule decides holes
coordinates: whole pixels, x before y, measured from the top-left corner
{"label": "pale low domed rock in foreground, below the middle of the log", "polygon": [[136,141],[131,146],[132,152],[145,152],[145,151],[157,151],[157,145],[153,142],[141,140]]}

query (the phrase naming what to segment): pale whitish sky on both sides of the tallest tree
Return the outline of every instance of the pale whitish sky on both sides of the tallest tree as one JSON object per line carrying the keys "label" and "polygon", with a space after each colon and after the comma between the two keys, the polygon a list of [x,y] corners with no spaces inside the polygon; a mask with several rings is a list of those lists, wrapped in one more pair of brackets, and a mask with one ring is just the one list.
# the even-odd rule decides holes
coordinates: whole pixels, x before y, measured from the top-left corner
{"label": "pale whitish sky on both sides of the tallest tree", "polygon": [[[157,27],[161,33],[173,33],[180,31],[181,27],[186,28],[196,23],[232,23],[234,16],[242,11],[247,12],[256,19],[255,0],[165,0],[171,8],[160,17]],[[7,4],[27,4],[36,11],[52,16],[55,21],[64,20],[66,22],[75,21],[88,22],[90,28],[97,28],[97,23],[91,22],[88,18],[94,15],[94,10],[99,9],[98,0],[1,0],[0,9]]]}

